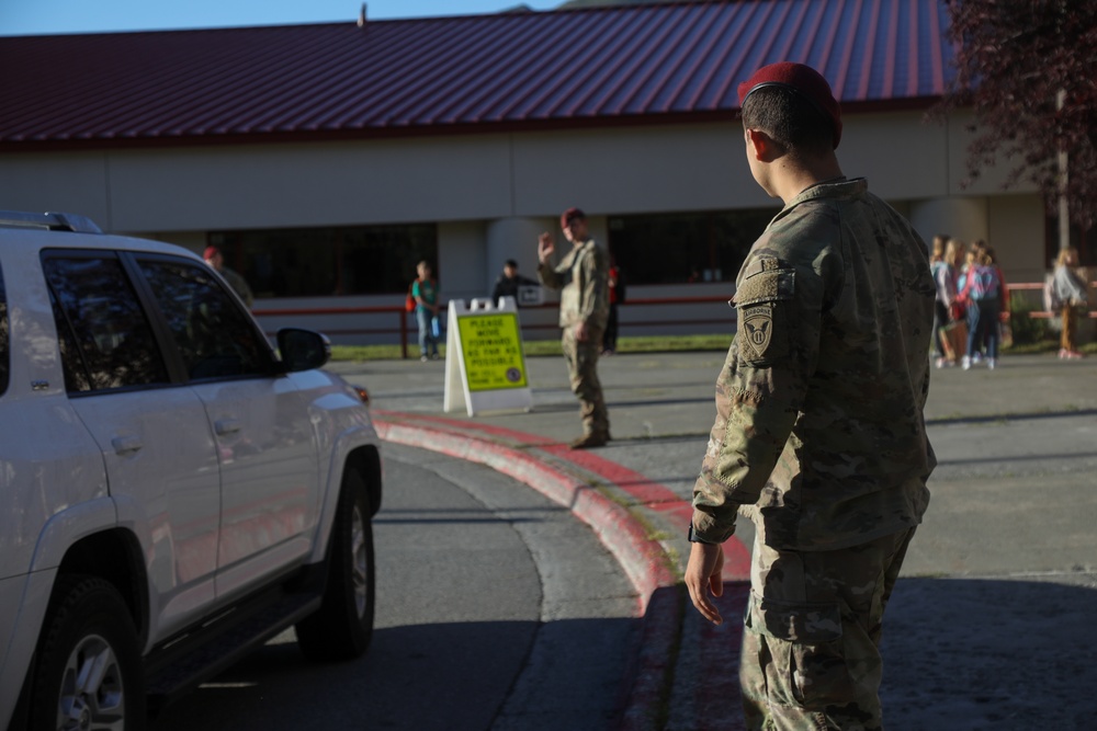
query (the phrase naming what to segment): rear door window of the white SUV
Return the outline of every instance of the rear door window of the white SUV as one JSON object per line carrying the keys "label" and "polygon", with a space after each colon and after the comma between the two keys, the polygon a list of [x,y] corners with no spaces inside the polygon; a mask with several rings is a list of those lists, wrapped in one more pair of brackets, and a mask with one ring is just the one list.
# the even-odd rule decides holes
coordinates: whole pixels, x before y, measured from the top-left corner
{"label": "rear door window of the white SUV", "polygon": [[117,258],[49,255],[42,267],[69,391],[169,381],[145,310]]}

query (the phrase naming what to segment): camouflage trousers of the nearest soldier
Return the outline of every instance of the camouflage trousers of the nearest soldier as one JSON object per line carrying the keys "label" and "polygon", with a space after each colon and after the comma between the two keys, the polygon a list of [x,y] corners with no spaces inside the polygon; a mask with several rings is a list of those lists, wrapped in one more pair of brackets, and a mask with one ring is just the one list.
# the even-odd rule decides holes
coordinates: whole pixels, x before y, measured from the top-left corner
{"label": "camouflage trousers of the nearest soldier", "polygon": [[739,666],[748,729],[883,729],[881,628],[913,536],[834,551],[755,540]]}

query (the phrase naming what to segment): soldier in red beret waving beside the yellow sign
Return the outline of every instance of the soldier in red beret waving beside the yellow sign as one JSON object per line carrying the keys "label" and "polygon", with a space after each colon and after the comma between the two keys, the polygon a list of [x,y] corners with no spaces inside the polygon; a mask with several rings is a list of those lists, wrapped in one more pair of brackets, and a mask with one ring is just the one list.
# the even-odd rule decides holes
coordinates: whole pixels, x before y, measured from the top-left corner
{"label": "soldier in red beret waving beside the yellow sign", "polygon": [[609,413],[598,380],[598,353],[610,309],[609,254],[589,237],[587,218],[578,208],[565,210],[559,225],[572,242],[572,251],[553,266],[555,242],[547,232],[542,233],[538,244],[538,277],[544,286],[561,290],[561,346],[583,418],[583,436],[570,446],[587,449],[610,441]]}

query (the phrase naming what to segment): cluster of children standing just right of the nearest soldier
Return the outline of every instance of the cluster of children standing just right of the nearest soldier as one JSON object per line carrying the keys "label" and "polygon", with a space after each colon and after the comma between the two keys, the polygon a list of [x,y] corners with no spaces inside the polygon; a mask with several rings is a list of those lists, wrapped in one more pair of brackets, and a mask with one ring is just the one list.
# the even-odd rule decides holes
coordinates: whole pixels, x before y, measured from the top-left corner
{"label": "cluster of children standing just right of the nearest soldier", "polygon": [[[985,359],[986,366],[994,369],[1002,328],[1009,322],[1009,288],[994,250],[984,241],[965,247],[959,239],[935,236],[930,271],[937,284],[934,304],[936,366],[954,366],[959,359],[968,370]],[[946,345],[946,327],[958,321],[968,328],[962,354]]]}

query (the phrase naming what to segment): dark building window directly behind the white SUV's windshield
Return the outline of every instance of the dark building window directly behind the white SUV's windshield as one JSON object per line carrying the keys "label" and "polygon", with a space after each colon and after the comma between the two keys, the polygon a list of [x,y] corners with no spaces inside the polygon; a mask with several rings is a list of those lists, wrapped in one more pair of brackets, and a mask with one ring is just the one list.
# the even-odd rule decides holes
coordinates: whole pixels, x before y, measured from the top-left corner
{"label": "dark building window directly behind the white SUV's windshield", "polygon": [[419,261],[438,261],[433,224],[216,231],[210,243],[256,297],[403,293]]}

